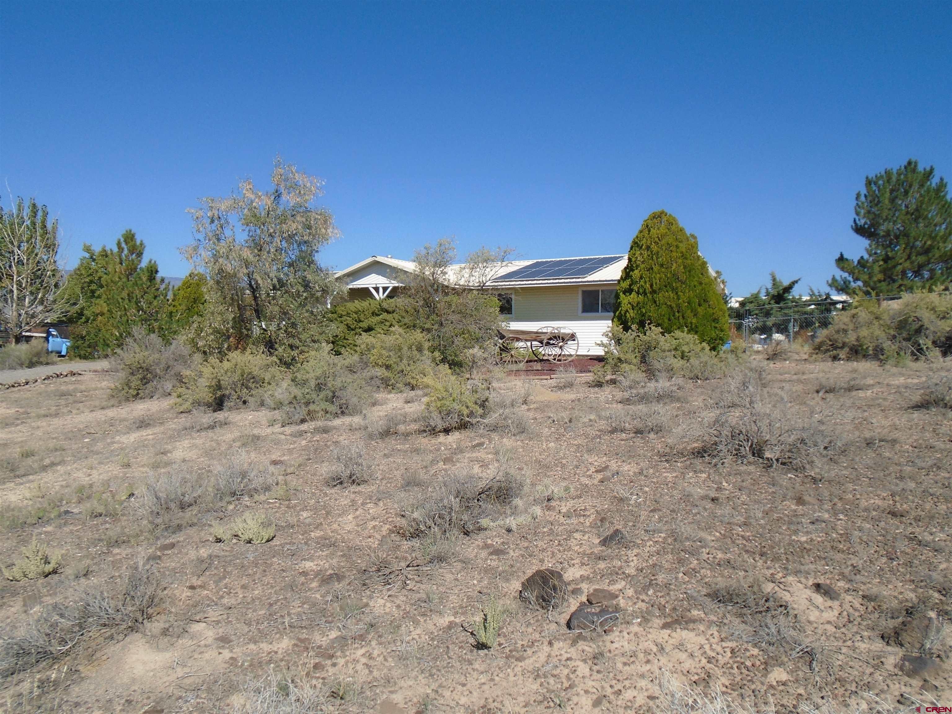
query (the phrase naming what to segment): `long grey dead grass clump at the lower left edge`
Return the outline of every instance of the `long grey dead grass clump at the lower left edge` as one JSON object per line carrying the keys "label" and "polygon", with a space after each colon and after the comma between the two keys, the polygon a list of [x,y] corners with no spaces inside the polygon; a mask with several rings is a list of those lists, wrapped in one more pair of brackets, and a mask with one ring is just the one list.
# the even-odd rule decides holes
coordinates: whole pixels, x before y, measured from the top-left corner
{"label": "long grey dead grass clump at the lower left edge", "polygon": [[154,570],[140,563],[122,589],[78,590],[68,602],[45,605],[12,632],[0,635],[0,676],[10,677],[69,654],[90,635],[116,636],[146,623],[159,604]]}

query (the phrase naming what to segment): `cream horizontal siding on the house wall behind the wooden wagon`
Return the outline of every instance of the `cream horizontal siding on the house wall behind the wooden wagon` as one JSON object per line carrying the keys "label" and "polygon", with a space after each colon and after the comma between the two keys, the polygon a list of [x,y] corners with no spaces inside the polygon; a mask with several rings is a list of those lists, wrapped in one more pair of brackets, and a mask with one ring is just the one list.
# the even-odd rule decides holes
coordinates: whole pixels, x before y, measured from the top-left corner
{"label": "cream horizontal siding on the house wall behind the wooden wagon", "polygon": [[[608,283],[592,288],[614,288]],[[514,288],[512,329],[539,329],[566,327],[579,337],[579,354],[602,354],[598,343],[605,340],[605,331],[611,327],[611,315],[581,315],[580,286]]]}

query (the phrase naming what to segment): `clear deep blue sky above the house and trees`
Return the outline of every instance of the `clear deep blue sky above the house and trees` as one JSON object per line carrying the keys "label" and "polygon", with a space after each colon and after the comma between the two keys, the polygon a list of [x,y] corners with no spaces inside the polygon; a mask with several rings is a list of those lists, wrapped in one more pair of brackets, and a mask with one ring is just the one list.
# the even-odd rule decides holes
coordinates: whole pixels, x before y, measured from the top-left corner
{"label": "clear deep blue sky above the house and trees", "polygon": [[327,180],[337,268],[621,253],[664,208],[734,294],[820,287],[867,174],[952,179],[948,2],[7,0],[0,42],[0,179],[70,266],[133,228],[184,274],[186,208],[281,153]]}

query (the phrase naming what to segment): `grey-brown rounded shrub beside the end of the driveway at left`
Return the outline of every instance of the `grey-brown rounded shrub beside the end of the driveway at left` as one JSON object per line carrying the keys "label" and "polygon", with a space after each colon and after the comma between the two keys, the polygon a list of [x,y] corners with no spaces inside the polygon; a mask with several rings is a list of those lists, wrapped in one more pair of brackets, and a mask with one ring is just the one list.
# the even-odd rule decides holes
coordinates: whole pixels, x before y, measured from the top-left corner
{"label": "grey-brown rounded shrub beside the end of the driveway at left", "polygon": [[167,345],[158,335],[136,327],[110,360],[116,375],[112,393],[123,399],[169,396],[193,363],[191,351],[182,343],[173,340]]}

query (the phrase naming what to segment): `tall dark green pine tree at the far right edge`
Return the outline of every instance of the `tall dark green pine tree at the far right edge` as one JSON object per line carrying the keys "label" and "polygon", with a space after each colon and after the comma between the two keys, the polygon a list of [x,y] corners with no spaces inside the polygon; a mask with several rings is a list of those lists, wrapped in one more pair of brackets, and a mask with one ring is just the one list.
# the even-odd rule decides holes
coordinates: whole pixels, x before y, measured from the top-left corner
{"label": "tall dark green pine tree at the far right edge", "polygon": [[890,295],[952,283],[952,201],[945,179],[933,183],[935,169],[909,159],[899,169],[866,177],[856,194],[853,232],[864,238],[866,254],[843,253],[829,287],[847,294]]}

